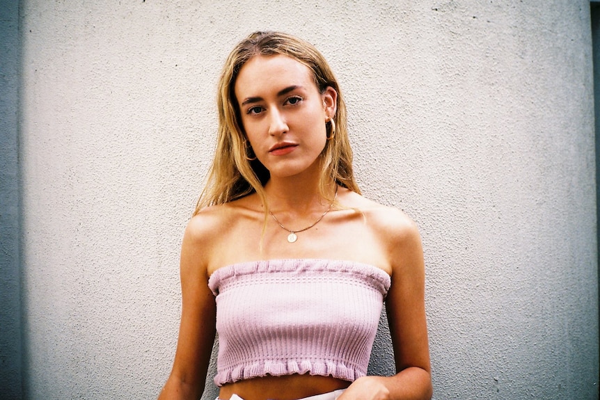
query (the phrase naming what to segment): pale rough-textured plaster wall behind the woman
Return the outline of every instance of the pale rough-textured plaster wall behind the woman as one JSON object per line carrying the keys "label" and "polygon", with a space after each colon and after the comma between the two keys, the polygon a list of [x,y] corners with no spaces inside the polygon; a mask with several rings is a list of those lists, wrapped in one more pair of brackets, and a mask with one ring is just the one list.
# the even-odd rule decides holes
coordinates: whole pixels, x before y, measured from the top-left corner
{"label": "pale rough-textured plaster wall behind the woman", "polygon": [[[157,395],[216,79],[255,29],[322,49],[365,195],[420,226],[435,398],[597,398],[587,1],[29,0],[21,14],[29,399]],[[385,333],[375,348],[372,371],[390,371]]]}

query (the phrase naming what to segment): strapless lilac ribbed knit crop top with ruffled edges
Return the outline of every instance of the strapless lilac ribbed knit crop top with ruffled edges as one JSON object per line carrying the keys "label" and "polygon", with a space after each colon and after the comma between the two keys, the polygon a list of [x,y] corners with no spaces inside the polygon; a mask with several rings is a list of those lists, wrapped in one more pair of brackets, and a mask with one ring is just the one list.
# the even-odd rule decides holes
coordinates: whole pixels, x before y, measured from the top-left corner
{"label": "strapless lilac ribbed knit crop top with ruffled edges", "polygon": [[365,376],[390,276],[329,259],[275,259],[217,269],[217,386],[257,376]]}

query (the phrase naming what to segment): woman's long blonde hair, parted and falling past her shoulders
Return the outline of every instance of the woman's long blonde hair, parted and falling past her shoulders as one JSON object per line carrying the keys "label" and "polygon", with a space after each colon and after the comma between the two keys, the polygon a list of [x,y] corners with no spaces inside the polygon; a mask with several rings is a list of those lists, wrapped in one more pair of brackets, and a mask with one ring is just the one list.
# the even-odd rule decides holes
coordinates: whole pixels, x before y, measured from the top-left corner
{"label": "woman's long blonde hair, parted and falling past her shoulders", "polygon": [[[246,135],[242,126],[234,86],[244,64],[253,56],[283,54],[303,63],[313,71],[315,84],[320,93],[328,86],[338,93],[335,111],[335,134],[326,141],[321,153],[321,176],[319,191],[324,198],[331,195],[326,188],[336,182],[356,193],[361,193],[352,171],[352,148],[348,140],[346,105],[338,81],[319,51],[308,42],[280,32],[255,32],[239,42],[227,58],[217,93],[219,131],[214,159],[207,177],[207,184],[200,194],[194,215],[209,205],[219,205],[256,192],[268,211],[265,189],[269,170],[258,161],[249,161],[246,155]],[[331,122],[327,122],[331,125]],[[328,127],[329,132],[332,129]],[[332,199],[329,199],[332,200]]]}

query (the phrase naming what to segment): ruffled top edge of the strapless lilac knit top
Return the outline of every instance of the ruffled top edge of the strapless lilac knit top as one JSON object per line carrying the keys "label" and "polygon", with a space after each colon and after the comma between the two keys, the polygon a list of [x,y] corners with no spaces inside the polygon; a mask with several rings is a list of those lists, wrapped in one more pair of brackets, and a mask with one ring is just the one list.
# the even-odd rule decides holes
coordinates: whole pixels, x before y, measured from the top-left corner
{"label": "ruffled top edge of the strapless lilac knit top", "polygon": [[391,278],[386,271],[371,264],[338,259],[267,259],[240,262],[223,266],[210,275],[208,287],[216,296],[221,282],[235,276],[255,273],[305,273],[331,272],[349,273],[363,278],[377,287],[386,296],[391,285]]}

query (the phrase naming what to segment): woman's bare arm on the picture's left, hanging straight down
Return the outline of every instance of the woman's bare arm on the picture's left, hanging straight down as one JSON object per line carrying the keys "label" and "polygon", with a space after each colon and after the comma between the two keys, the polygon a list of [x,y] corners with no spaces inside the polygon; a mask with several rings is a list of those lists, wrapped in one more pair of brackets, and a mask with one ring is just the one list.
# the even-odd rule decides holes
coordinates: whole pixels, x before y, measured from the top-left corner
{"label": "woman's bare arm on the picture's left, hanging straight down", "polygon": [[191,218],[184,233],[180,259],[182,313],[177,351],[171,375],[159,400],[196,400],[204,391],[216,321],[214,295],[208,287],[210,244],[207,241],[211,235],[207,232],[205,219],[201,214]]}

